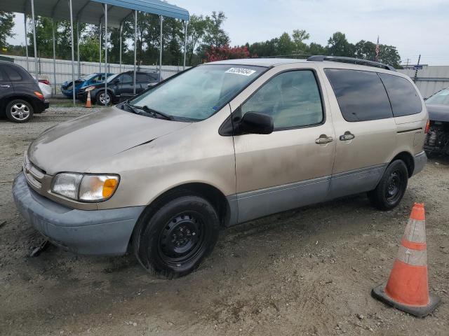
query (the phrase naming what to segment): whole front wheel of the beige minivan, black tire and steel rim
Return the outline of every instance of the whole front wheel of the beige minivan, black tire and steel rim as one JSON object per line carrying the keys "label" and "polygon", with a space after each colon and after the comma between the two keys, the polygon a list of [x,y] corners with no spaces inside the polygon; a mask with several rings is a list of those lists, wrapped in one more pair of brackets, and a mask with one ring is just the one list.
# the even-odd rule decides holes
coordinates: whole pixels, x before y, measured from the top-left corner
{"label": "whole front wheel of the beige minivan, black tire and steel rim", "polygon": [[207,200],[177,193],[145,210],[133,233],[134,253],[152,274],[185,276],[212,252],[219,229],[217,211]]}

